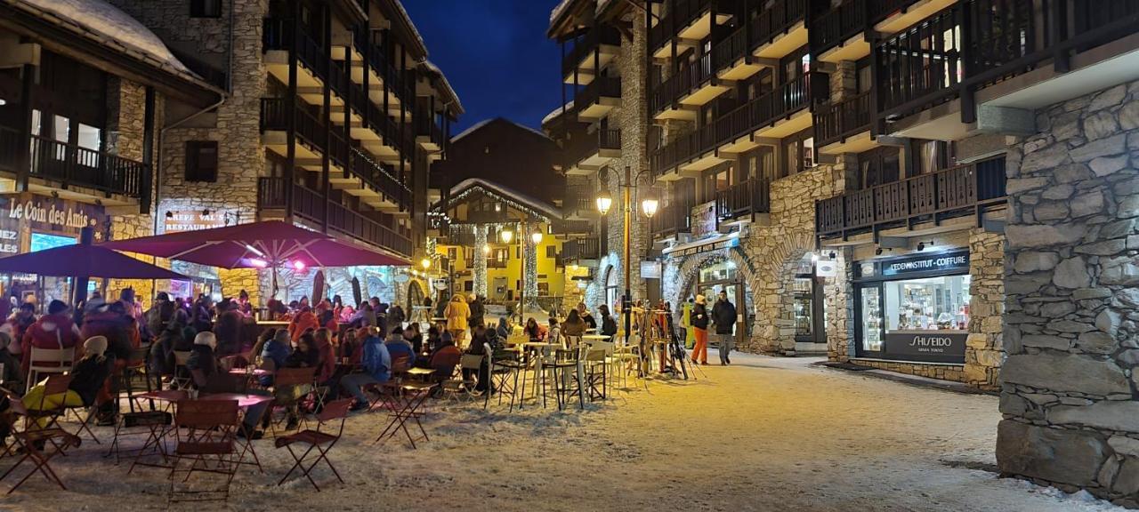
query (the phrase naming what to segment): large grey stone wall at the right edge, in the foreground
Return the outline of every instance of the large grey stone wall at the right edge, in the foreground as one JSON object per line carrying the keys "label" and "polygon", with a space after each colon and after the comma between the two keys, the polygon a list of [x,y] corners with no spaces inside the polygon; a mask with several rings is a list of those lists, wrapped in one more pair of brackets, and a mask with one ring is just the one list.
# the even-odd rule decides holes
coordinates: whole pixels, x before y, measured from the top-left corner
{"label": "large grey stone wall at the right edge, in the foreground", "polygon": [[1139,506],[1139,82],[1036,124],[1008,158],[997,461]]}

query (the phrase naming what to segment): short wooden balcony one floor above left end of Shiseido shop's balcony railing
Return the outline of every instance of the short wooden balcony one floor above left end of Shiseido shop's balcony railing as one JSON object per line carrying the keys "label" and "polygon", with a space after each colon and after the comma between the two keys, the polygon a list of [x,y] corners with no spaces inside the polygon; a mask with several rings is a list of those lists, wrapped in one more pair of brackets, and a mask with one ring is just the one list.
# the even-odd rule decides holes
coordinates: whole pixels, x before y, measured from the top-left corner
{"label": "short wooden balcony one floor above left end of Shiseido shop's balcony railing", "polygon": [[861,152],[870,138],[870,91],[814,107],[814,143],[823,154]]}

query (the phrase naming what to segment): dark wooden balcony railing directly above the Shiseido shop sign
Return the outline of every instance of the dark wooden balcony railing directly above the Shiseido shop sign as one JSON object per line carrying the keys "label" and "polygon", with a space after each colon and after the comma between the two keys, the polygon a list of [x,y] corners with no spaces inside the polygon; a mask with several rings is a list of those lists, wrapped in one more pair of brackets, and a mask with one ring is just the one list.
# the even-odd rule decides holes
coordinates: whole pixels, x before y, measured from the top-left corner
{"label": "dark wooden balcony railing directly above the Shiseido shop sign", "polygon": [[1005,200],[1005,157],[950,167],[816,203],[816,233],[977,214]]}

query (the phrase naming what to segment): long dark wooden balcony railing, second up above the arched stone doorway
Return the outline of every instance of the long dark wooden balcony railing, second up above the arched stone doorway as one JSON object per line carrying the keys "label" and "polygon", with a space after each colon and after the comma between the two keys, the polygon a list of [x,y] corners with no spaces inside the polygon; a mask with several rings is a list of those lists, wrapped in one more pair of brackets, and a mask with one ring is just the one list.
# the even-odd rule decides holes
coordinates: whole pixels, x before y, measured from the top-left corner
{"label": "long dark wooden balcony railing, second up above the arched stone doorway", "polygon": [[808,108],[817,94],[813,88],[826,85],[827,76],[819,72],[781,84],[657,149],[649,156],[649,167],[658,176],[680,163]]}

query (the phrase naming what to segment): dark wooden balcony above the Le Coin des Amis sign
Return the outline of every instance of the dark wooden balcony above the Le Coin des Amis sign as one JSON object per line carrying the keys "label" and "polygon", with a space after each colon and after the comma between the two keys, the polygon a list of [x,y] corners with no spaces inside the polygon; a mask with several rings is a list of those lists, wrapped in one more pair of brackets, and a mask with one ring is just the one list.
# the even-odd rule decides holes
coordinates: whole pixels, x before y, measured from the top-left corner
{"label": "dark wooden balcony above the Le Coin des Amis sign", "polygon": [[28,177],[43,191],[65,191],[108,205],[149,203],[150,166],[141,162],[40,135],[31,135],[31,146],[22,140],[18,130],[0,126],[0,171],[17,175],[26,157]]}

